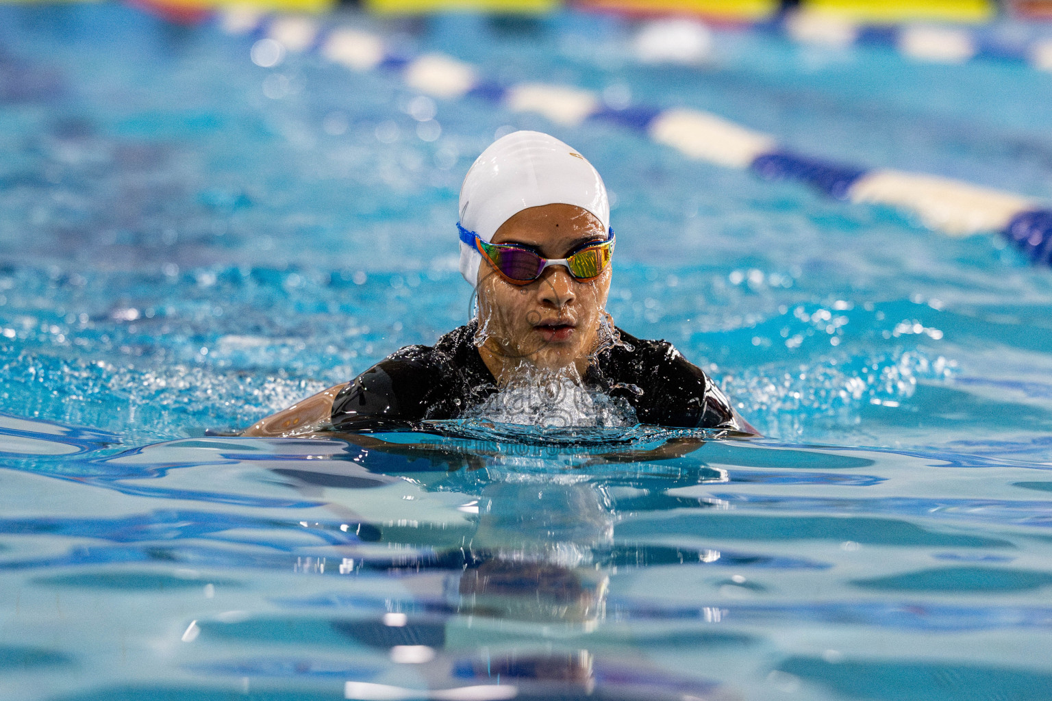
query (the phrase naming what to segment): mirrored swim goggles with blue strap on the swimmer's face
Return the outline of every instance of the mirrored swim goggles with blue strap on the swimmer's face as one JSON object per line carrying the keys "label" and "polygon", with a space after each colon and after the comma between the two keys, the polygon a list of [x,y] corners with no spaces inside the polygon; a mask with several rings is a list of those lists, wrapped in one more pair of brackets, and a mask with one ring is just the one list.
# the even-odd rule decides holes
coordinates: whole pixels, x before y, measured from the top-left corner
{"label": "mirrored swim goggles with blue strap on the swimmer's face", "polygon": [[457,228],[460,230],[461,241],[477,249],[512,285],[532,283],[551,265],[564,266],[576,281],[595,280],[610,265],[613,255],[613,229],[610,229],[610,235],[604,242],[586,245],[564,259],[545,259],[515,244],[485,242],[474,231],[461,226],[460,222],[457,223]]}

